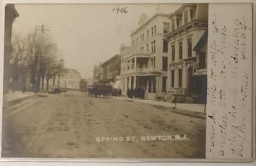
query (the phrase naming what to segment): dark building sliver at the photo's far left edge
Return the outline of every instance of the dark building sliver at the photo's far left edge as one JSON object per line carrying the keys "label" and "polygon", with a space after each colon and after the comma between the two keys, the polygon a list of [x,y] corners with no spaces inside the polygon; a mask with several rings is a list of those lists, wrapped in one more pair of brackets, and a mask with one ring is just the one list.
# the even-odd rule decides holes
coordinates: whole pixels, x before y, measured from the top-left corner
{"label": "dark building sliver at the photo's far left edge", "polygon": [[14,4],[6,4],[4,18],[4,93],[9,91],[12,24],[16,17],[19,17],[19,13],[15,9]]}

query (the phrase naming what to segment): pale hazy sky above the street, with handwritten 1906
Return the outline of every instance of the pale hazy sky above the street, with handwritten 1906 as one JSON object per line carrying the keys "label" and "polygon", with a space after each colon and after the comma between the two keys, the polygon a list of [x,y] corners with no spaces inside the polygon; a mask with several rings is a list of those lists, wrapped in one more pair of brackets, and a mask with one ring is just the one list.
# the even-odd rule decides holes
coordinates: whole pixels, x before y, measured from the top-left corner
{"label": "pale hazy sky above the street, with handwritten 1906", "polygon": [[[181,4],[158,4],[163,13],[172,13]],[[125,8],[127,13],[113,12]],[[130,34],[142,14],[150,18],[157,4],[15,4],[19,17],[13,33],[22,35],[35,26],[49,27],[65,67],[93,77],[93,66],[120,54],[122,43],[131,45]]]}

